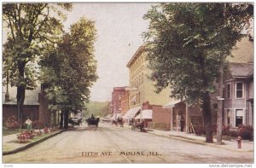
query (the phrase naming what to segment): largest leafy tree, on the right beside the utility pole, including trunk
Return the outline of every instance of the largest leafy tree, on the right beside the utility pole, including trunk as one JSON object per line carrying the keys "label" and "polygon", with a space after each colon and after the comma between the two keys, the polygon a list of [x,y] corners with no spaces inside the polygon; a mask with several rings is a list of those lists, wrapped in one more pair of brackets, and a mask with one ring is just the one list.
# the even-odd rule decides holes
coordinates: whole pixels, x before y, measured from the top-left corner
{"label": "largest leafy tree, on the right beside the utility pole, including trunk", "polygon": [[160,3],[144,15],[148,60],[157,90],[200,103],[206,142],[212,142],[211,94],[221,62],[244,37],[253,5],[247,3]]}

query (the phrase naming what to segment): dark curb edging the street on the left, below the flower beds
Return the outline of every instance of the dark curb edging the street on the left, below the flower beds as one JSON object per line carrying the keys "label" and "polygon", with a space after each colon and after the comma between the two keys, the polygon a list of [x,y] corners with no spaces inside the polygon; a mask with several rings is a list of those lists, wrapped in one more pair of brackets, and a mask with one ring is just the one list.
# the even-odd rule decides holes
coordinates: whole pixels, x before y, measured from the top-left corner
{"label": "dark curb edging the street on the left, below the flower beds", "polygon": [[15,154],[15,153],[18,153],[18,152],[20,152],[20,151],[22,151],[22,150],[25,150],[26,148],[31,148],[32,146],[34,146],[34,145],[36,145],[36,144],[38,144],[38,143],[40,143],[40,142],[44,142],[45,140],[49,139],[50,137],[56,136],[56,135],[60,134],[60,133],[63,132],[63,131],[65,131],[65,130],[60,130],[59,132],[56,132],[56,133],[54,133],[54,134],[52,134],[52,135],[50,135],[50,136],[45,136],[45,137],[43,137],[43,138],[41,138],[41,139],[38,139],[38,140],[35,141],[35,142],[31,142],[31,143],[27,144],[27,145],[24,146],[24,147],[15,148],[15,149],[9,150],[9,151],[3,151],[3,155]]}

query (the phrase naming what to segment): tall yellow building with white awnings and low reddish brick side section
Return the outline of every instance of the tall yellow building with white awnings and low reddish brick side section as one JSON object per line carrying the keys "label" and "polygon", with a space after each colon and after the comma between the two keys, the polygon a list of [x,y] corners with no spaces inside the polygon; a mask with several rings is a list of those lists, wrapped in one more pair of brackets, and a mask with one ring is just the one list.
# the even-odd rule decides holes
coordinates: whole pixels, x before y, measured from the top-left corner
{"label": "tall yellow building with white awnings and low reddish brick side section", "polygon": [[137,119],[145,120],[147,118],[154,125],[166,125],[162,129],[169,130],[171,114],[162,106],[170,101],[171,90],[162,90],[159,94],[155,92],[154,82],[148,78],[151,71],[148,69],[146,55],[144,46],[141,46],[126,65],[130,70],[129,110],[124,118],[137,117]]}

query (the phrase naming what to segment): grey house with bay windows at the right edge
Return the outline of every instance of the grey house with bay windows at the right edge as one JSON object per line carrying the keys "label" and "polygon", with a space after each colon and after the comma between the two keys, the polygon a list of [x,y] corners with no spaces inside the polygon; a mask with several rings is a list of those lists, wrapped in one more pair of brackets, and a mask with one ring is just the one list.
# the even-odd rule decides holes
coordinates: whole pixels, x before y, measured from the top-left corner
{"label": "grey house with bay windows at the right edge", "polygon": [[224,125],[253,125],[253,64],[230,63],[224,80]]}

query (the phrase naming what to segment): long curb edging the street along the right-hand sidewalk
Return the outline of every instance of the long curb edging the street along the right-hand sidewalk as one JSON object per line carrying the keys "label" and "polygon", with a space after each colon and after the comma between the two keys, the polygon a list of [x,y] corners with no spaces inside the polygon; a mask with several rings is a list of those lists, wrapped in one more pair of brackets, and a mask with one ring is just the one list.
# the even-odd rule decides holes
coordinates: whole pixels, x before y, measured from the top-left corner
{"label": "long curb edging the street along the right-hand sidewalk", "polygon": [[200,142],[200,140],[195,140],[195,139],[186,139],[183,137],[177,137],[177,136],[166,136],[166,135],[159,135],[159,134],[155,134],[154,132],[147,132],[148,134],[152,134],[154,136],[162,136],[162,137],[166,137],[166,138],[172,138],[172,139],[176,139],[176,140],[180,140],[183,142],[191,142],[191,143],[195,143],[195,144],[199,144],[199,145],[206,145],[206,146],[210,146],[210,147],[214,147],[214,148],[224,148],[226,150],[230,150],[230,151],[234,151],[234,152],[253,152],[253,150],[239,150],[239,149],[231,149],[231,148],[225,148],[224,146],[218,146],[215,145],[214,143],[207,143],[207,142]]}

